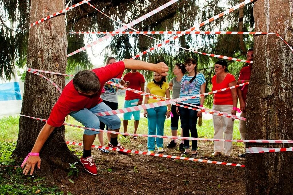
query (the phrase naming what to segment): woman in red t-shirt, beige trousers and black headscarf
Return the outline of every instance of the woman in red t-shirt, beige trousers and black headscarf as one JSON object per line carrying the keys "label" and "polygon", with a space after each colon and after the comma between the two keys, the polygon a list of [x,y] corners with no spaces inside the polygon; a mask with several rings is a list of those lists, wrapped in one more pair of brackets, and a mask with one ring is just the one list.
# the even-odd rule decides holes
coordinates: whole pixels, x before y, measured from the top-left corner
{"label": "woman in red t-shirt, beige trousers and black headscarf", "polygon": [[[236,79],[233,74],[228,73],[227,67],[228,64],[225,60],[219,60],[215,63],[216,75],[212,77],[212,91],[236,85]],[[215,93],[213,110],[236,115],[237,101],[236,88]],[[214,139],[231,140],[233,138],[234,119],[213,115],[213,124]],[[214,141],[212,155],[219,156],[222,154],[221,152],[225,153],[225,157],[230,157],[232,142]]]}

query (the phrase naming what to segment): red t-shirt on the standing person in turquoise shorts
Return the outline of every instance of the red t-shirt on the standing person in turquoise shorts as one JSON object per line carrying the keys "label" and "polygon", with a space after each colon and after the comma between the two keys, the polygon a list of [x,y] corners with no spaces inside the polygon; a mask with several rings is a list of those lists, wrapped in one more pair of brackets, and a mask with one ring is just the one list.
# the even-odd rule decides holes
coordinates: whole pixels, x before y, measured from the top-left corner
{"label": "red t-shirt on the standing person in turquoise shorts", "polygon": [[[144,76],[142,74],[140,74],[139,72],[135,72],[135,73],[127,73],[124,75],[123,80],[129,81],[130,82],[130,86],[128,88],[130,89],[136,89],[136,90],[141,90],[140,84],[144,83]],[[132,100],[132,99],[139,99],[140,95],[133,93],[131,91],[126,91],[126,95],[125,95],[125,100]]]}

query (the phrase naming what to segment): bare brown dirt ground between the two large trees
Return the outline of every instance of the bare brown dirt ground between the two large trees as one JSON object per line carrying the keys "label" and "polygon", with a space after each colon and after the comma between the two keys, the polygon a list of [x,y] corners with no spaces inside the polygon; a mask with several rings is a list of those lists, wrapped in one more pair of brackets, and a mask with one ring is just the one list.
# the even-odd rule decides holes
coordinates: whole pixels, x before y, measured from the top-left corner
{"label": "bare brown dirt ground between the two large trees", "polygon": [[[164,139],[164,145],[169,140]],[[166,143],[165,143],[166,142]],[[147,140],[130,140],[127,149],[147,151]],[[177,144],[178,145],[178,144]],[[232,156],[212,157],[213,143],[199,141],[199,158],[244,164],[237,157],[244,147],[233,146]],[[164,154],[180,156],[178,148],[164,148]],[[76,146],[75,150],[82,151]],[[121,155],[116,151],[103,154],[93,148],[98,175],[90,175],[79,167],[77,178],[56,169],[45,176],[48,182],[72,194],[245,194],[243,167],[216,165],[187,160],[174,160],[149,155]],[[109,169],[110,170],[109,172]],[[74,184],[68,179],[74,181]]]}

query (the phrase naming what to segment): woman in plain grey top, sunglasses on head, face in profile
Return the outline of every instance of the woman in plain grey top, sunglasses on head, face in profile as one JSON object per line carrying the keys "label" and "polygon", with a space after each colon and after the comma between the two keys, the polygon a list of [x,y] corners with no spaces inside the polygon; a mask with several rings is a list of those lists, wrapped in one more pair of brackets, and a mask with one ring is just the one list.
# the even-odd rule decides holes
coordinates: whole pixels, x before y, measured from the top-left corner
{"label": "woman in plain grey top, sunglasses on head, face in profile", "polygon": [[[180,89],[181,89],[181,79],[183,75],[185,74],[186,69],[185,65],[182,63],[176,63],[175,67],[173,68],[173,73],[176,75],[171,81],[169,82],[170,89],[173,91],[172,93],[172,99],[179,98]],[[179,121],[179,115],[176,113],[176,106],[171,105],[171,112],[173,114],[173,117],[171,117],[171,132],[172,136],[177,136],[177,130],[178,130],[178,121]],[[183,135],[183,128],[181,128],[181,135]],[[171,140],[171,142],[167,145],[168,148],[172,148],[176,146],[176,139]],[[183,140],[181,140],[181,143],[179,145],[179,150],[184,151],[184,144]]]}

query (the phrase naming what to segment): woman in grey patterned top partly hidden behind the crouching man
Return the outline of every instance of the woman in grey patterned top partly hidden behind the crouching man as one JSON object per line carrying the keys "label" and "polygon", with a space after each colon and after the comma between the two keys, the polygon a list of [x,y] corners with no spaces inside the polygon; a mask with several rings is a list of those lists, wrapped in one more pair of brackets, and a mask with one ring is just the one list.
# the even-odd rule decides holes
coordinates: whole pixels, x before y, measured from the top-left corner
{"label": "woman in grey patterned top partly hidden behind the crouching man", "polygon": [[[113,64],[115,62],[116,62],[115,57],[108,57],[105,65]],[[112,81],[113,83],[117,83],[117,84],[119,83],[122,86],[126,87],[126,83],[123,81],[123,79],[113,78],[110,81]],[[109,106],[112,110],[118,109],[118,96],[116,93],[118,89],[119,88],[116,86],[113,86],[110,84],[105,84],[104,88],[103,88],[104,92],[102,92],[102,94],[100,96],[100,98],[103,100],[103,102],[107,106]],[[100,121],[100,129],[104,130],[104,128],[105,128],[105,124],[102,121]],[[106,130],[107,131],[109,130],[108,126],[106,126]],[[108,137],[108,140],[110,141],[110,133],[107,133],[107,137]],[[98,134],[98,138],[99,138],[100,145],[104,146],[103,132],[100,132]],[[106,154],[110,153],[109,150],[104,149],[104,148],[98,148],[98,150],[100,150],[101,152],[106,153]]]}

